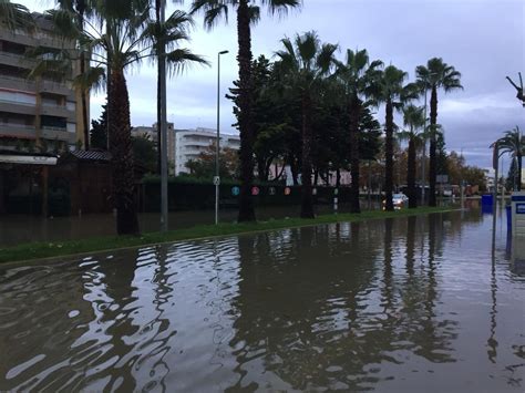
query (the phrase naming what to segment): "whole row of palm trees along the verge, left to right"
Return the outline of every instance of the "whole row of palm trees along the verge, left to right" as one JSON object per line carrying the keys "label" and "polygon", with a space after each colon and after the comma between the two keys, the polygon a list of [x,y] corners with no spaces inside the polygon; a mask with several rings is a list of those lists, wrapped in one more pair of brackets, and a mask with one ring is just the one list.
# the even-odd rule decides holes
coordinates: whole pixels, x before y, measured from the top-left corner
{"label": "whole row of palm trees along the verge, left to right", "polygon": [[[133,156],[131,145],[130,100],[125,71],[137,66],[144,60],[157,61],[158,86],[166,71],[166,62],[177,71],[189,63],[206,64],[206,61],[193,54],[181,44],[189,39],[193,25],[192,14],[204,13],[207,28],[216,25],[223,18],[227,21],[229,11],[237,15],[239,81],[238,81],[238,128],[240,133],[240,198],[238,221],[255,220],[251,197],[254,182],[254,82],[251,77],[251,27],[261,15],[261,8],[268,8],[270,14],[286,14],[301,6],[300,0],[194,0],[189,14],[175,11],[165,21],[164,0],[58,0],[58,8],[47,12],[53,21],[56,33],[74,42],[76,59],[81,62],[81,73],[76,84],[84,94],[90,89],[106,83],[109,97],[109,136],[113,156],[113,192],[117,210],[117,232],[138,234],[136,206],[133,197]],[[30,29],[29,11],[9,0],[0,0],[2,19],[12,28],[25,25]],[[362,110],[369,105],[385,106],[385,193],[387,209],[392,205],[393,178],[393,133],[394,112],[401,111],[406,103],[415,100],[421,91],[431,90],[430,102],[430,201],[435,206],[435,135],[437,131],[437,91],[449,92],[462,89],[461,74],[441,59],[431,59],[426,65],[416,69],[418,81],[405,84],[406,72],[393,65],[383,68],[380,61],[369,61],[366,50],[347,51],[343,62],[336,59],[337,45],[322,44],[315,32],[297,35],[295,40],[282,40],[284,49],[277,52],[281,72],[288,76],[291,85],[300,89],[302,101],[302,174],[311,173],[311,107],[312,95],[319,94],[319,82],[327,77],[337,79],[343,86],[343,96],[348,103],[351,118],[349,135],[353,143],[350,152],[352,177],[359,178],[359,138],[358,124]],[[42,53],[40,53],[42,54]],[[48,55],[41,62],[42,70],[63,69],[72,62],[71,51],[53,51],[52,60]],[[91,59],[91,66],[86,60]],[[159,89],[158,89],[159,90]],[[85,100],[85,95],[83,96]],[[162,112],[161,95],[157,96],[157,110]],[[83,116],[86,117],[86,116]],[[159,121],[162,118],[159,117]],[[86,123],[86,118],[84,118]],[[408,123],[406,123],[408,122]],[[410,123],[412,122],[412,123]],[[84,123],[84,130],[87,130]],[[161,124],[161,122],[158,122]],[[420,123],[405,117],[412,133]],[[414,134],[415,135],[415,134]],[[86,147],[87,136],[85,137]],[[410,145],[410,139],[409,139]],[[161,149],[159,149],[161,151]],[[311,197],[311,177],[302,176],[301,216],[313,217]],[[415,203],[415,198],[411,198]],[[359,213],[359,184],[352,184],[352,211]],[[415,206],[415,205],[413,205]]]}

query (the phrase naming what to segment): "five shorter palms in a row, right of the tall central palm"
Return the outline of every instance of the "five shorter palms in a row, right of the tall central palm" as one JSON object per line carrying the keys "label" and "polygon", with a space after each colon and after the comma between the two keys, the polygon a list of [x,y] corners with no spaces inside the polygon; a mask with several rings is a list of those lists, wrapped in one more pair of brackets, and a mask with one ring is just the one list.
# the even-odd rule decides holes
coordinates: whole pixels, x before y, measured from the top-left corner
{"label": "five shorter palms in a row, right of the tall central palm", "polygon": [[[346,102],[349,116],[350,136],[350,167],[352,179],[359,179],[359,124],[364,108],[369,106],[384,105],[385,108],[385,209],[393,210],[393,144],[394,113],[403,112],[404,124],[408,132],[404,133],[409,139],[409,176],[408,186],[410,194],[410,206],[416,207],[415,192],[415,148],[419,139],[419,131],[424,125],[423,108],[409,105],[420,97],[426,90],[431,90],[430,101],[430,126],[423,130],[423,136],[430,138],[430,198],[429,205],[435,206],[435,177],[436,177],[436,135],[437,124],[437,91],[440,89],[450,92],[454,89],[463,89],[461,74],[453,66],[443,62],[442,59],[429,60],[426,65],[420,65],[415,70],[416,81],[406,83],[408,73],[394,65],[383,66],[379,60],[370,61],[367,50],[347,50],[344,61],[336,58],[337,45],[321,43],[315,32],[297,34],[295,40],[284,39],[284,49],[276,54],[280,68],[288,84],[301,92],[302,101],[302,203],[301,217],[312,218],[311,197],[311,100],[313,94],[322,94],[322,82],[332,80],[338,83],[339,92],[333,90],[330,94],[338,94]],[[359,206],[359,182],[352,182],[350,208],[352,213],[360,213]]]}

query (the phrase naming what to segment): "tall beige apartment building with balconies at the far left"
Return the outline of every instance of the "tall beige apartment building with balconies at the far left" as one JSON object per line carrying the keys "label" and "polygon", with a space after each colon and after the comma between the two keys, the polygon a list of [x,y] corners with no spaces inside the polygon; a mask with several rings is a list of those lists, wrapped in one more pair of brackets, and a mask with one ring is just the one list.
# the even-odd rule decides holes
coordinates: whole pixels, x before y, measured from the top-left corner
{"label": "tall beige apartment building with balconies at the far left", "polygon": [[[0,149],[74,149],[84,142],[81,91],[72,84],[80,64],[68,73],[28,79],[35,64],[25,56],[28,49],[68,45],[53,37],[43,15],[32,15],[38,25],[32,33],[0,25]],[[86,110],[89,118],[89,97]]]}

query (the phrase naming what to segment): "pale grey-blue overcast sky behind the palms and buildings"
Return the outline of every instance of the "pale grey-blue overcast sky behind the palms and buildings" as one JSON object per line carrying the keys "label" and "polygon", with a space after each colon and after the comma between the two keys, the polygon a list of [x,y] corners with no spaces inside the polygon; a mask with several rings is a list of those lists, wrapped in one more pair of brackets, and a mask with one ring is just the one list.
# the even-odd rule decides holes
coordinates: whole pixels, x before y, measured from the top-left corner
{"label": "pale grey-blue overcast sky behind the palms and buildings", "polygon": [[[53,3],[17,1],[35,11]],[[186,7],[189,3],[186,0]],[[262,13],[253,30],[254,56],[272,56],[285,35],[309,30],[342,50],[367,49],[371,59],[409,72],[411,81],[415,66],[433,56],[460,71],[464,91],[439,93],[437,122],[445,130],[447,149],[463,148],[469,164],[491,166],[488,145],[515,125],[525,131],[525,108],[505,80],[506,75],[516,80],[518,71],[525,72],[523,0],[303,0],[302,9],[286,18]],[[202,28],[202,18],[197,17],[189,45],[213,65],[189,69],[168,82],[168,121],[176,128],[215,127],[218,51],[230,51],[222,58],[222,95],[237,79],[235,14],[230,14],[229,25],[219,24],[210,32]],[[153,124],[155,70],[143,64],[127,79],[132,125]],[[104,100],[104,94],[92,97],[92,118],[100,115]],[[378,116],[383,123],[384,114],[379,112]],[[222,101],[222,131],[235,133],[227,100]]]}

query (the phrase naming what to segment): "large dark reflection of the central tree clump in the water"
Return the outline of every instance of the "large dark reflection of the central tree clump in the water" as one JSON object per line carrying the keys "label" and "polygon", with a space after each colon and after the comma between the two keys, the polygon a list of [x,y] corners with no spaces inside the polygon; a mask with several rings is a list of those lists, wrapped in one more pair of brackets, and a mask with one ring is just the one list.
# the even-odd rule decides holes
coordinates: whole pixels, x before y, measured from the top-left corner
{"label": "large dark reflection of the central tree clump in the water", "polygon": [[[239,289],[233,301],[238,318],[230,347],[236,349],[239,380],[230,391],[258,387],[245,380],[244,364],[254,355],[262,354],[264,370],[278,375],[289,386],[285,389],[297,390],[329,385],[323,369],[333,362],[341,362],[343,381],[347,374],[362,375],[366,360],[380,361],[381,345],[367,353],[380,334],[354,334],[361,323],[359,294],[370,285],[373,256],[372,247],[356,242],[362,240],[359,225],[352,232],[353,240],[341,241],[337,250],[327,227],[266,234],[265,240],[238,238]],[[364,250],[370,257],[358,258]],[[352,352],[358,355],[349,356]]]}

